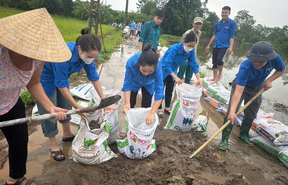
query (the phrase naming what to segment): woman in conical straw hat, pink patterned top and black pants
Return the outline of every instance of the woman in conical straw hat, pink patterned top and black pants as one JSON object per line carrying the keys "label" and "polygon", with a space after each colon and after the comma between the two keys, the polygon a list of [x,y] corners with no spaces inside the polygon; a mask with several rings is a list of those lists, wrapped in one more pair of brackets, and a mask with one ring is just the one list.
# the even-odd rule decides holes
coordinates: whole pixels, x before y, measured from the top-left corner
{"label": "woman in conical straw hat, pink patterned top and black pants", "polygon": [[[24,118],[25,105],[20,98],[26,87],[47,110],[66,119],[66,109],[55,107],[44,92],[40,76],[44,62],[64,62],[71,51],[45,8],[0,19],[0,122]],[[6,184],[35,185],[27,180],[27,123],[1,128],[9,145],[9,177]]]}

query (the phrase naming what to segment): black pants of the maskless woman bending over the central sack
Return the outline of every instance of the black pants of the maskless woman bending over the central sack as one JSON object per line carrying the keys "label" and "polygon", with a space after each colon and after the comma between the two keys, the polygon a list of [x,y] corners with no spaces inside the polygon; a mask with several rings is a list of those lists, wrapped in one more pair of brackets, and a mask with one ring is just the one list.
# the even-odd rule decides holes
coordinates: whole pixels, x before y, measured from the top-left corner
{"label": "black pants of the maskless woman bending over the central sack", "polygon": [[[142,89],[142,90],[141,90],[141,91],[142,91],[141,107],[142,107],[142,108],[151,107],[153,94],[151,95],[151,94],[146,90],[146,88],[144,88],[144,87],[142,87],[141,89]],[[131,94],[130,94],[130,107],[131,107],[131,108],[134,108],[134,106],[135,106],[135,104],[136,104],[137,94],[138,94],[138,91],[137,91],[137,92],[131,91]]]}

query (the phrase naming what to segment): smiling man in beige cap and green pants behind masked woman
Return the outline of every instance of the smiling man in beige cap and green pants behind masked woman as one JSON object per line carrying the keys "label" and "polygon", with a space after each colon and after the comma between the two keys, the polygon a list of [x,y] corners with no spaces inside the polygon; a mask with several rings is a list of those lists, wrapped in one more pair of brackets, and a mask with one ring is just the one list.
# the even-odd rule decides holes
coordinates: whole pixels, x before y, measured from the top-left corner
{"label": "smiling man in beige cap and green pants behind masked woman", "polygon": [[[182,38],[180,40],[180,42],[184,41],[185,36],[190,33],[190,32],[194,32],[196,37],[197,37],[197,43],[195,45],[195,56],[196,56],[196,51],[197,51],[197,46],[200,40],[200,35],[201,35],[201,31],[200,29],[202,28],[203,25],[203,19],[202,17],[195,17],[195,19],[193,20],[192,29],[187,30],[183,35]],[[189,84],[191,81],[191,78],[193,76],[193,70],[191,69],[190,65],[188,64],[188,61],[186,60],[180,67],[179,67],[179,72],[177,74],[179,79],[183,79],[184,78],[184,73],[185,73],[185,83]]]}

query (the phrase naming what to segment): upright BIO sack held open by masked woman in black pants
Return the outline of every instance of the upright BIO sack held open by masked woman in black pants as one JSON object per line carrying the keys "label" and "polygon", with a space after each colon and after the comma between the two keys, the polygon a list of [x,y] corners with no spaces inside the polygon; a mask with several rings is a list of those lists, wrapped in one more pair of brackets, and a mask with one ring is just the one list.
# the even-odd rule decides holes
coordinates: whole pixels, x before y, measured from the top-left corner
{"label": "upright BIO sack held open by masked woman in black pants", "polygon": [[202,95],[202,88],[194,84],[176,84],[176,94],[177,99],[173,103],[171,114],[164,128],[189,132]]}

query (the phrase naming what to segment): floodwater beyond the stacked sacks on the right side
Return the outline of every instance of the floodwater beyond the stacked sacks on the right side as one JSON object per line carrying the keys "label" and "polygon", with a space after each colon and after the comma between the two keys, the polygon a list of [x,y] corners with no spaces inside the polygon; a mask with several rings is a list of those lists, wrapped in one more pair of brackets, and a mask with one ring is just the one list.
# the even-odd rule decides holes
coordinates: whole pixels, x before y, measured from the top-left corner
{"label": "floodwater beyond the stacked sacks on the right side", "polygon": [[[201,38],[198,48],[197,48],[197,61],[201,66],[201,71],[206,73],[207,76],[212,77],[212,48],[210,49],[210,53],[206,54],[205,49],[210,41],[210,38]],[[173,43],[171,43],[173,44]],[[224,60],[224,70],[221,79],[221,83],[225,85],[225,87],[229,87],[229,82],[235,78],[239,70],[239,66],[243,60],[245,60],[247,52],[251,49],[252,44],[240,44],[234,43],[233,53],[230,55],[226,55]],[[274,49],[282,58],[286,66],[288,66],[288,51],[281,50],[278,48]],[[273,74],[274,71],[271,72],[270,75]],[[288,70],[274,82],[272,82],[272,88],[268,91],[264,92],[263,103],[261,108],[266,112],[276,113],[274,118],[288,124],[288,115],[282,112],[278,112],[273,109],[274,103],[284,103],[288,105],[288,99],[284,98],[288,91]]]}

